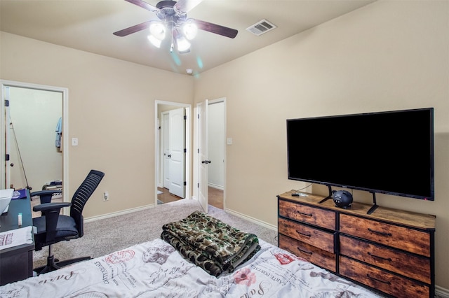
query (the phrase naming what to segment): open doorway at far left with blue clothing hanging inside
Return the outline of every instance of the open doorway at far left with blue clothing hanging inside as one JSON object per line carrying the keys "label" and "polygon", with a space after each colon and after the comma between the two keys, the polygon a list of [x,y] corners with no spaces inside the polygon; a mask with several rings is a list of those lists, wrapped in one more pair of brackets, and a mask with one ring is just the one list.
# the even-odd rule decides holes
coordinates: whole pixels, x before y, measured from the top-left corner
{"label": "open doorway at far left with blue clothing hanging inside", "polygon": [[1,187],[67,189],[68,90],[1,80],[1,98]]}

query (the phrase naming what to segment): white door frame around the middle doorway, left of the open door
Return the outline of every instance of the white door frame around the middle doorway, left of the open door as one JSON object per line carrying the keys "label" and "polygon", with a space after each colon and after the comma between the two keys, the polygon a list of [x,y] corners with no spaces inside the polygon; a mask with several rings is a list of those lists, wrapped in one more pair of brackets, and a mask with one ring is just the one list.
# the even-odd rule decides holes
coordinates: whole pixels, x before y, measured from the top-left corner
{"label": "white door frame around the middle doorway, left of the open door", "polygon": [[192,184],[190,173],[191,173],[191,164],[192,164],[192,143],[191,143],[191,127],[192,127],[192,105],[191,104],[182,104],[174,101],[162,101],[156,99],[154,101],[154,204],[157,206],[157,187],[159,185],[158,176],[159,176],[159,166],[158,162],[160,155],[160,144],[159,144],[159,104],[173,106],[176,108],[185,108],[186,122],[185,122],[185,147],[187,149],[185,156],[185,199],[190,199],[190,185]]}

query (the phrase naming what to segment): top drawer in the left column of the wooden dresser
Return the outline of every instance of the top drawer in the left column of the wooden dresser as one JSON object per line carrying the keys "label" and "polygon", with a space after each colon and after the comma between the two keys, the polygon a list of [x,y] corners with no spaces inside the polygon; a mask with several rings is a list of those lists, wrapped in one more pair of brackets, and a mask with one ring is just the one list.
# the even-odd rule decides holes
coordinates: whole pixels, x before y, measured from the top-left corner
{"label": "top drawer in the left column of the wooden dresser", "polygon": [[297,204],[290,201],[279,200],[279,215],[317,225],[326,229],[335,230],[335,212]]}

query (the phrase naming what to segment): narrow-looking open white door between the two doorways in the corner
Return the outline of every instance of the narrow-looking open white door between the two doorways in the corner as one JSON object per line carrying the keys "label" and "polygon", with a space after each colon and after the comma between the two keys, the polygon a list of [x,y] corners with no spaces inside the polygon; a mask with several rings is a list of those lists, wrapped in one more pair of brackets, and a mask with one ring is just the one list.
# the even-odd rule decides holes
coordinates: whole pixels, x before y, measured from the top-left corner
{"label": "narrow-looking open white door between the two doorways in the corner", "polygon": [[198,111],[198,199],[208,212],[208,100],[196,105]]}

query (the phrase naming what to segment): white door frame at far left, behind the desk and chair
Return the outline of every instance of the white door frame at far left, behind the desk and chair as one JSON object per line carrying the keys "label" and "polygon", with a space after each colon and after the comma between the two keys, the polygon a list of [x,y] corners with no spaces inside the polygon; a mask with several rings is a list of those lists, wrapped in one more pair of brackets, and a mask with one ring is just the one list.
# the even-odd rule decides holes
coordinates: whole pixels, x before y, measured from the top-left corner
{"label": "white door frame at far left, behind the desk and chair", "polygon": [[[64,87],[55,87],[48,85],[39,85],[32,83],[23,83],[13,80],[0,80],[1,85],[1,102],[0,102],[0,156],[2,160],[2,164],[0,166],[0,187],[8,188],[8,185],[5,185],[4,178],[6,177],[6,140],[4,138],[6,134],[5,123],[5,101],[6,98],[6,87],[19,87],[19,88],[28,88],[34,90],[43,90],[43,91],[51,91],[51,92],[60,92],[62,94],[62,190],[69,189],[69,90]],[[8,177],[9,180],[9,177]],[[62,192],[62,201],[67,201],[66,192]]]}

